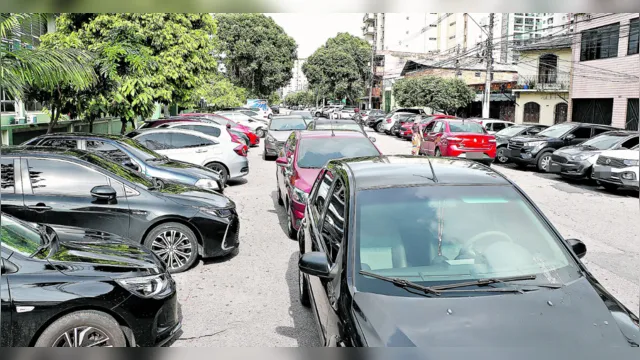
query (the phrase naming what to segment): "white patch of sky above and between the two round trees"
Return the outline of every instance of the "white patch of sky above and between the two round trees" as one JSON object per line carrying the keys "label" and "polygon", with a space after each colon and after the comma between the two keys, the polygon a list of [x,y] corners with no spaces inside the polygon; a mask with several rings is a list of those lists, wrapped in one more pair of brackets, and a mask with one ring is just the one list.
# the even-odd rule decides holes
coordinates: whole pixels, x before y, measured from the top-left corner
{"label": "white patch of sky above and between the two round trees", "polygon": [[339,32],[362,37],[364,13],[307,14],[278,13],[271,16],[298,43],[298,58],[313,54],[321,45]]}

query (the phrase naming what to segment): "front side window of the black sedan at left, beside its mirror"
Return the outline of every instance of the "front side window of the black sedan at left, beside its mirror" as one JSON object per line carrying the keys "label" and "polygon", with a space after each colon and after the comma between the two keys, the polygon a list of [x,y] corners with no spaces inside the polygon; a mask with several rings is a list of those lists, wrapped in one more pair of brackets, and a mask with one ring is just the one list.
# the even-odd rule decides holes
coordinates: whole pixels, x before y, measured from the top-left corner
{"label": "front side window of the black sedan at left, beside its mirror", "polygon": [[91,189],[109,185],[97,171],[67,161],[29,159],[29,178],[34,194],[91,196]]}

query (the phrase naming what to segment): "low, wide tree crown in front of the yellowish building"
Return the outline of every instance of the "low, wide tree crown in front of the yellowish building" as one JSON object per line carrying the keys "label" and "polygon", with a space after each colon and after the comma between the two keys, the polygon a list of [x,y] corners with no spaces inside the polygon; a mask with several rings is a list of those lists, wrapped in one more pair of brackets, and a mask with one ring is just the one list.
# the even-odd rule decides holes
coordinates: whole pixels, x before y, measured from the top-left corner
{"label": "low, wide tree crown in front of the yellowish building", "polygon": [[422,76],[396,81],[393,96],[403,107],[426,106],[453,114],[473,101],[475,92],[460,79]]}

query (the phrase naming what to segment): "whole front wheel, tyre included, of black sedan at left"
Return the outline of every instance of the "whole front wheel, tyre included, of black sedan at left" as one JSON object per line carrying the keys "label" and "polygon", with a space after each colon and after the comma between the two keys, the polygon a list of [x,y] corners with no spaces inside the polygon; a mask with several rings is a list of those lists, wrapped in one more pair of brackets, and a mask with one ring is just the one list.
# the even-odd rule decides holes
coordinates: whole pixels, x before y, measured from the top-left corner
{"label": "whole front wheel, tyre included, of black sedan at left", "polygon": [[172,274],[189,269],[198,258],[196,235],[179,223],[158,225],[149,232],[144,246],[158,255]]}

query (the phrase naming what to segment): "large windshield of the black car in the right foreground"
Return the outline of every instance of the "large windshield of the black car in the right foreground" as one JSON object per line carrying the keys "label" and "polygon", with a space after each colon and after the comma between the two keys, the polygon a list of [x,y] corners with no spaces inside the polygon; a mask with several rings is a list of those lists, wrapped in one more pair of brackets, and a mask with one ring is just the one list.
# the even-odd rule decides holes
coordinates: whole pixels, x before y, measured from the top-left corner
{"label": "large windshield of the black car in the right foreground", "polygon": [[356,286],[411,296],[360,270],[426,286],[536,274],[566,284],[578,267],[561,239],[512,186],[361,190],[355,198]]}

